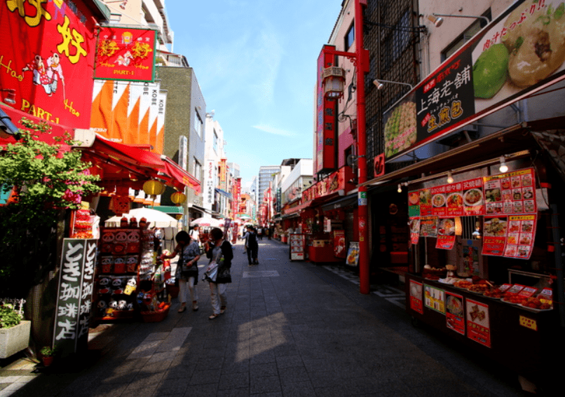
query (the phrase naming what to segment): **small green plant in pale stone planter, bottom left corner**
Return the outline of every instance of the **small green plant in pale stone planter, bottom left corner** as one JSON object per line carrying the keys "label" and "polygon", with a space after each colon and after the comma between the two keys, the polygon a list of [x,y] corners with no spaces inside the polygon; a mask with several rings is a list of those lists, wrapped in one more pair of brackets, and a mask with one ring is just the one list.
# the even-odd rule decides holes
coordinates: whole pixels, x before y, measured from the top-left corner
{"label": "small green plant in pale stone planter, bottom left corner", "polygon": [[[23,303],[20,303],[20,307]],[[0,305],[0,358],[8,358],[27,347],[32,321],[22,321],[11,303]]]}

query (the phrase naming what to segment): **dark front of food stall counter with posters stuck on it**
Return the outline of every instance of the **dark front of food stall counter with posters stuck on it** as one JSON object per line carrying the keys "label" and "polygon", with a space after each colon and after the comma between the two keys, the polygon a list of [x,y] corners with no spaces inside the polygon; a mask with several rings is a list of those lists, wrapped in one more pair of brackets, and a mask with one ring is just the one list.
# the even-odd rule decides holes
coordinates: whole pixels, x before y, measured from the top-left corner
{"label": "dark front of food stall counter with posters stuck on it", "polygon": [[557,310],[512,305],[416,274],[406,279],[406,309],[413,319],[527,379],[543,382],[554,361]]}

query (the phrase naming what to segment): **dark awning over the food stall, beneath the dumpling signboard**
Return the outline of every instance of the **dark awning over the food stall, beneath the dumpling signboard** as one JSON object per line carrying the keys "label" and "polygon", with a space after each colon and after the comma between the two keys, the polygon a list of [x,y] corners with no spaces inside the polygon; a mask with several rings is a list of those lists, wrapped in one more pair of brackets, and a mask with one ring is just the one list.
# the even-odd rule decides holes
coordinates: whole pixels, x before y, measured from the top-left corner
{"label": "dark awning over the food stall, beneath the dumpling signboard", "polygon": [[441,174],[442,172],[457,172],[458,169],[473,164],[481,164],[489,160],[496,161],[503,154],[526,151],[539,148],[532,131],[544,131],[563,127],[565,117],[535,120],[519,123],[498,132],[472,141],[451,151],[435,155],[420,162],[416,162],[402,169],[389,172],[383,176],[371,179],[364,186],[376,186],[381,183],[398,181],[411,176]]}

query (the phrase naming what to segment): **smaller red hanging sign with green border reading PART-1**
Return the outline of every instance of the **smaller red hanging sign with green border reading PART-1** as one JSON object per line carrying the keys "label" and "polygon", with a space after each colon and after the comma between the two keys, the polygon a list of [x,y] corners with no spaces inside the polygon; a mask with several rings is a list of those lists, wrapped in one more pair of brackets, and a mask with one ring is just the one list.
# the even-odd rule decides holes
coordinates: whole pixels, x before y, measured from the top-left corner
{"label": "smaller red hanging sign with green border reading PART-1", "polygon": [[130,27],[102,27],[98,35],[95,78],[153,81],[157,32]]}

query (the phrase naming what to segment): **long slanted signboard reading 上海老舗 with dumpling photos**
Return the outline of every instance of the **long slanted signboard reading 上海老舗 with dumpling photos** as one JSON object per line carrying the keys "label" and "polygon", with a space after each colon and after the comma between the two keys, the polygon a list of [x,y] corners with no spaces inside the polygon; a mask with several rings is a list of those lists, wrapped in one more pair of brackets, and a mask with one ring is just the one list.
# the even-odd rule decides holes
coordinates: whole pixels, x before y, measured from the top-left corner
{"label": "long slanted signboard reading \u4e0a\u6d77\u8001\u8217 with dumpling photos", "polygon": [[564,79],[564,21],[562,0],[512,4],[384,113],[386,158]]}

